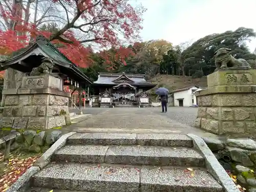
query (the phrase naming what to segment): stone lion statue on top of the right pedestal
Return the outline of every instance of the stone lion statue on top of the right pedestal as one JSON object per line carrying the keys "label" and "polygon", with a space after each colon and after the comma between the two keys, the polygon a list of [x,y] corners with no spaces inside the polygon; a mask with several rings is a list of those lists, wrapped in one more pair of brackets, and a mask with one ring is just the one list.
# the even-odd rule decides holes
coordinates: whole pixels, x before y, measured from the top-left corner
{"label": "stone lion statue on top of the right pedestal", "polygon": [[245,59],[236,59],[229,54],[231,49],[220,48],[214,55],[215,58],[215,71],[218,70],[248,70],[250,69],[250,64]]}

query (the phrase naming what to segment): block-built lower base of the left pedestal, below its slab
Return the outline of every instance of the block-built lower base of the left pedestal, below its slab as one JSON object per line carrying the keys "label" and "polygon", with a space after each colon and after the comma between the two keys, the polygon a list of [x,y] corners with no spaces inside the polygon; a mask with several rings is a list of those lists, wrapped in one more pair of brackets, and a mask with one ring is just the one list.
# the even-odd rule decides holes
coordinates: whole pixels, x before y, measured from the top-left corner
{"label": "block-built lower base of the left pedestal, below its slab", "polygon": [[68,97],[50,94],[7,95],[1,127],[45,129],[70,124]]}

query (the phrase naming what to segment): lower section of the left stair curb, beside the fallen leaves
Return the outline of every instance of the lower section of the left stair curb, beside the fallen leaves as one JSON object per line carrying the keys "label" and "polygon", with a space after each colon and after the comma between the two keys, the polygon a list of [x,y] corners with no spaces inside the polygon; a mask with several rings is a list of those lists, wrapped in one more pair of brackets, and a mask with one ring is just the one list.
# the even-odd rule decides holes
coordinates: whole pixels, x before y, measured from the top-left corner
{"label": "lower section of the left stair curb, beside the fallen leaves", "polygon": [[25,192],[30,184],[30,178],[39,172],[39,170],[40,168],[37,166],[30,167],[15,183],[13,183],[7,192]]}

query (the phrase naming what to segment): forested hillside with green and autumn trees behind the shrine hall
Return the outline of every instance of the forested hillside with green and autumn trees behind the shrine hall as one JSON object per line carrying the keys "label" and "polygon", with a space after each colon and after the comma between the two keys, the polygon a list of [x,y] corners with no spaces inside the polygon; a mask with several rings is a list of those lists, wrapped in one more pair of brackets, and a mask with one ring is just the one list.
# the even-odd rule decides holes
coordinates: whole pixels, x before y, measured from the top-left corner
{"label": "forested hillside with green and autumn trees behind the shrine hall", "polygon": [[[206,86],[206,76],[215,70],[214,52],[221,47],[230,48],[235,58],[244,58],[256,67],[256,55],[246,46],[246,41],[255,37],[253,29],[240,27],[235,31],[214,33],[202,37],[193,44],[184,42],[173,46],[166,40],[151,40],[130,45],[131,53],[124,60],[120,59],[116,49],[104,51],[108,60],[101,53],[91,55],[92,64],[82,69],[92,80],[97,79],[98,72],[125,72],[145,74],[151,81],[163,81],[177,89],[190,84]],[[174,77],[158,76],[158,74],[175,75]],[[157,75],[157,76],[156,76]],[[183,76],[185,78],[179,78]],[[158,78],[159,77],[159,78]],[[166,78],[165,80],[161,80]],[[153,80],[152,80],[153,79]]]}

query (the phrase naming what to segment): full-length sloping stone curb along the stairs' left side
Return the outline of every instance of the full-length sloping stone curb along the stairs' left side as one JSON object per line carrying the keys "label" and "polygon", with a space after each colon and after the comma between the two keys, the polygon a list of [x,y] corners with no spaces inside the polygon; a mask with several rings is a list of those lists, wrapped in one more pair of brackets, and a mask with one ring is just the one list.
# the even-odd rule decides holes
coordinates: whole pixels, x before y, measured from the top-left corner
{"label": "full-length sloping stone curb along the stairs' left side", "polygon": [[30,179],[41,168],[44,168],[51,161],[52,154],[59,150],[60,147],[66,144],[67,139],[74,135],[76,132],[70,132],[62,135],[42,156],[36,160],[32,167],[30,167],[13,185],[7,190],[7,192],[25,192],[30,185]]}

